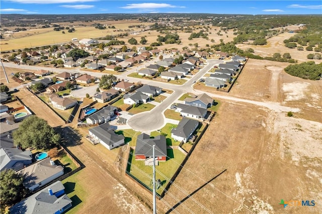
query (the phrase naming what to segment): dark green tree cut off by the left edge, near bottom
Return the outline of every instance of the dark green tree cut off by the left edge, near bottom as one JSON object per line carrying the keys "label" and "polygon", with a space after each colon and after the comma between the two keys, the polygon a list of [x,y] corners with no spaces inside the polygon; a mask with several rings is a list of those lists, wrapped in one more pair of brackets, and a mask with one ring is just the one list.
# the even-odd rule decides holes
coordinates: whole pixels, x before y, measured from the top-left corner
{"label": "dark green tree cut off by the left edge, near bottom", "polygon": [[13,169],[5,169],[0,173],[0,201],[2,206],[10,206],[20,201],[26,194],[23,177]]}

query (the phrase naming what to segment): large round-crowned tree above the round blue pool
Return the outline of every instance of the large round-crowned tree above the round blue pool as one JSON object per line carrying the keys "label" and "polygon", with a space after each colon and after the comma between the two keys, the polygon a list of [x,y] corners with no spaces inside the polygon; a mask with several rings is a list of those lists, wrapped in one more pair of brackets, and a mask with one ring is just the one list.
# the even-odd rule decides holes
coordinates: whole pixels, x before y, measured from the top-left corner
{"label": "large round-crowned tree above the round blue pool", "polygon": [[23,120],[19,128],[13,132],[14,144],[22,148],[35,147],[49,149],[59,145],[60,135],[50,127],[47,121],[30,116]]}

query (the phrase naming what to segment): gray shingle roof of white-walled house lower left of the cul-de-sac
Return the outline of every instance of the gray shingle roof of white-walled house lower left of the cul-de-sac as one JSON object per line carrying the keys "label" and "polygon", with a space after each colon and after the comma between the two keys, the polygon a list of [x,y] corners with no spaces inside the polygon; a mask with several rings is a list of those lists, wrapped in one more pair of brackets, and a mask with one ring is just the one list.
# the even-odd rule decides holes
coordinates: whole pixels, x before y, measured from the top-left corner
{"label": "gray shingle roof of white-walled house lower left of the cul-de-sac", "polygon": [[110,125],[108,123],[94,127],[90,129],[89,132],[93,133],[96,137],[109,146],[122,139],[124,140],[124,136],[115,134],[115,132],[110,129]]}

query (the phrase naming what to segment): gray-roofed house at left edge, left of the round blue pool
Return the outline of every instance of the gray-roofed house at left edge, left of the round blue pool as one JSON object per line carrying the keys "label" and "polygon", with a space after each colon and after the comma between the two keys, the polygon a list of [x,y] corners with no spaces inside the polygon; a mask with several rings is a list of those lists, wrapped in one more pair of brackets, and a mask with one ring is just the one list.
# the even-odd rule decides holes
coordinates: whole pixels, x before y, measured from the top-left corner
{"label": "gray-roofed house at left edge, left of the round blue pool", "polygon": [[17,171],[32,163],[32,153],[30,150],[22,151],[16,148],[1,148],[0,157],[0,171],[5,169]]}

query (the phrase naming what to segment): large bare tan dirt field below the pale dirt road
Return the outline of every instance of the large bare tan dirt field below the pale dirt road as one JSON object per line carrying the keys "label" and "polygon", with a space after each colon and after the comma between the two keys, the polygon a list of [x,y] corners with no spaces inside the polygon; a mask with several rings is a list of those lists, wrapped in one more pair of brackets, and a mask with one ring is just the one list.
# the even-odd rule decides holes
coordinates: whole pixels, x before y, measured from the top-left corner
{"label": "large bare tan dirt field below the pale dirt road", "polygon": [[321,131],[320,123],[223,102],[165,200],[180,201],[179,213],[320,213],[319,205],[279,202],[321,200]]}

